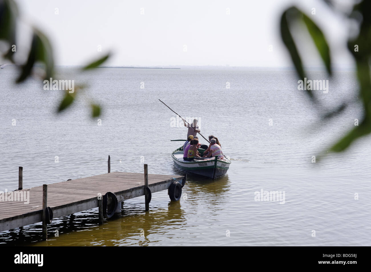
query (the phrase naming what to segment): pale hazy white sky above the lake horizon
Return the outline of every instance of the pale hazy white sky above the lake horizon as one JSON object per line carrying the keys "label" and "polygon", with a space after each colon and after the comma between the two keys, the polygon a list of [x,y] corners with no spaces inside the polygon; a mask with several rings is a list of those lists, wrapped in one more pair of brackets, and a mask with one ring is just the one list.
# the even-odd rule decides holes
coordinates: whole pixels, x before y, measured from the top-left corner
{"label": "pale hazy white sky above the lake horizon", "polygon": [[[352,65],[345,48],[347,24],[320,0],[16,2],[22,20],[49,36],[57,65],[86,64],[112,51],[106,65],[291,66],[279,35],[280,16],[291,4],[308,15],[314,7],[316,15],[311,18],[334,48],[334,63]],[[21,29],[17,52],[26,51],[30,38],[29,30]],[[299,50],[311,52],[313,46],[308,41],[302,38]],[[102,52],[98,52],[99,45]],[[318,54],[310,55],[315,57],[307,58],[305,65],[321,64]]]}

